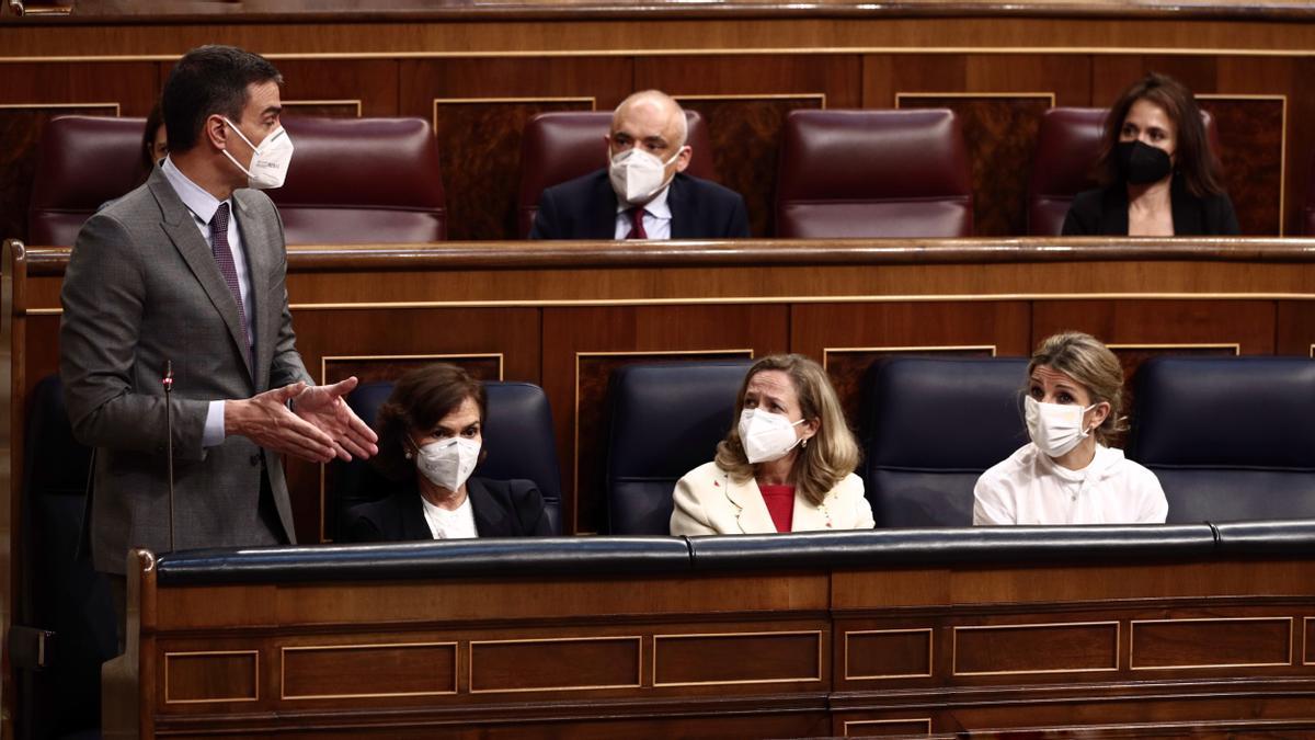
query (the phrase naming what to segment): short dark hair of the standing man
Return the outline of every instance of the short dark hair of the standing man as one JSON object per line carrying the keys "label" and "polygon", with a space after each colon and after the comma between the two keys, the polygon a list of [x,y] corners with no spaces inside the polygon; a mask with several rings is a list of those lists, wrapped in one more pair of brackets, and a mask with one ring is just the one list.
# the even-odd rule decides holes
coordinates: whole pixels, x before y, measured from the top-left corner
{"label": "short dark hair of the standing man", "polygon": [[214,113],[238,122],[247,103],[247,86],[270,80],[283,84],[283,75],[259,54],[235,46],[199,46],[188,51],[174,66],[160,96],[168,150],[188,151],[196,146],[205,119]]}

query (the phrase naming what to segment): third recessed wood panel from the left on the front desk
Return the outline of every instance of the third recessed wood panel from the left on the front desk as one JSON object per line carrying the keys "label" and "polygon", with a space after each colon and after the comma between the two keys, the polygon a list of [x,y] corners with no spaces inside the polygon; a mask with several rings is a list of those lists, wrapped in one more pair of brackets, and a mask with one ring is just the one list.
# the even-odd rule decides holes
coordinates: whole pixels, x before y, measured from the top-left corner
{"label": "third recessed wood panel from the left on the front desk", "polygon": [[639,637],[471,643],[471,691],[638,687]]}

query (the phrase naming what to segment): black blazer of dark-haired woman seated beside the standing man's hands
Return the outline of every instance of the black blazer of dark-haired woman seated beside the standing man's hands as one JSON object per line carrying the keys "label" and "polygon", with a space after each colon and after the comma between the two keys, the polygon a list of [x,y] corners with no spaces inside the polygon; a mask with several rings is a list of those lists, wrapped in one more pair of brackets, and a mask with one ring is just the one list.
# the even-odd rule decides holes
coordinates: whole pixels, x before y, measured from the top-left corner
{"label": "black blazer of dark-haired woman seated beside the standing man's hands", "polygon": [[[492,481],[471,478],[466,495],[475,510],[475,531],[480,537],[523,537],[552,533],[543,496],[531,481]],[[398,542],[433,540],[425,521],[425,506],[414,486],[387,499],[363,503],[347,512],[347,542]]]}

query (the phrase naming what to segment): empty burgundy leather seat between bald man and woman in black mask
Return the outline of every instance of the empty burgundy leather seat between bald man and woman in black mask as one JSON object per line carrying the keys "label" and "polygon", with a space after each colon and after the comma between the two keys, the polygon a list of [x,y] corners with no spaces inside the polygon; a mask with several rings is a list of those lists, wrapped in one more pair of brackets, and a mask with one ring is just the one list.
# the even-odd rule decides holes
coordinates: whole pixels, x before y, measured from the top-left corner
{"label": "empty burgundy leather seat between bald man and woman in black mask", "polygon": [[968,167],[952,111],[793,111],[776,183],[776,234],[970,236]]}

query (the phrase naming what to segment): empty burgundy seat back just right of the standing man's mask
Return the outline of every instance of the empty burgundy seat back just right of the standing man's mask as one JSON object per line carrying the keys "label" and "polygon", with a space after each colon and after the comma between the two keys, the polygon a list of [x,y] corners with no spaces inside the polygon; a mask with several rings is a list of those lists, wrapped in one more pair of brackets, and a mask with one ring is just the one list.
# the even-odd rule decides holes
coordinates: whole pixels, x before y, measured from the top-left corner
{"label": "empty burgundy seat back just right of the standing man's mask", "polygon": [[296,147],[279,205],[288,244],[447,238],[438,144],[423,119],[285,116]]}

